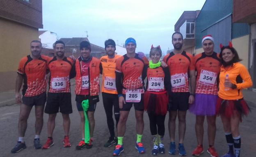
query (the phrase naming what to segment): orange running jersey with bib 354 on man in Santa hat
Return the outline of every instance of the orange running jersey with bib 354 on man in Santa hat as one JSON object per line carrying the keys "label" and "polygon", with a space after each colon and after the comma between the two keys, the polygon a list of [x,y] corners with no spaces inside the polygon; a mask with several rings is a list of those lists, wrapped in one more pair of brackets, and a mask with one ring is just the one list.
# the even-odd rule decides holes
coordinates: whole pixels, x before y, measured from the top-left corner
{"label": "orange running jersey with bib 354 on man in Santa hat", "polygon": [[221,66],[219,54],[213,52],[208,56],[204,52],[194,57],[197,70],[196,93],[218,94],[217,79]]}

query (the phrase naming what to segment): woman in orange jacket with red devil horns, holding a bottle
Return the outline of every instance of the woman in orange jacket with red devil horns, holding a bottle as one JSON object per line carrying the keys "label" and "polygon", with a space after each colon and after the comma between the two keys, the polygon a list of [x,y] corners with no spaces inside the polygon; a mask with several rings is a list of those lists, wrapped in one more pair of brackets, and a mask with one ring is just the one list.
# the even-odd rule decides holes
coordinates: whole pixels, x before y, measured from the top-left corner
{"label": "woman in orange jacket with red devil horns, holding a bottle", "polygon": [[[239,157],[241,138],[239,124],[242,115],[249,114],[249,107],[243,99],[242,89],[252,86],[246,67],[239,63],[241,59],[232,43],[220,45],[219,57],[222,66],[219,73],[219,91],[216,112],[221,116],[229,152],[222,157]],[[233,148],[234,147],[234,148]]]}

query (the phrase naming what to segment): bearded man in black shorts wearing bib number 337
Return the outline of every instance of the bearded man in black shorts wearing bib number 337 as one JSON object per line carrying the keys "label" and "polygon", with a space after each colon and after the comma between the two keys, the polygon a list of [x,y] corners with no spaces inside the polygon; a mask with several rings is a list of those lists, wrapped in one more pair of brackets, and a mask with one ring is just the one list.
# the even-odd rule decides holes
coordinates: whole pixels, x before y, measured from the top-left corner
{"label": "bearded man in black shorts wearing bib number 337", "polygon": [[183,36],[180,32],[172,35],[172,44],[174,51],[165,55],[163,61],[169,66],[171,75],[171,103],[169,108],[169,135],[171,139],[170,154],[176,153],[175,145],[175,127],[176,117],[178,115],[179,131],[179,155],[185,156],[186,150],[183,145],[186,130],[186,112],[189,104],[194,102],[195,90],[195,67],[194,57],[182,49]]}

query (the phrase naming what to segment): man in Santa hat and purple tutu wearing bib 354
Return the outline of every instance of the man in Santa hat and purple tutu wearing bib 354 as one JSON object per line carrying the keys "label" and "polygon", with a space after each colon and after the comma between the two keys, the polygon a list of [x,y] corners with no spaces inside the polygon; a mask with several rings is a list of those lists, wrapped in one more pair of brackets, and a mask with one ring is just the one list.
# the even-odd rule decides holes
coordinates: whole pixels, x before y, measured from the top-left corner
{"label": "man in Santa hat and purple tutu wearing bib 354", "polygon": [[[219,76],[221,60],[219,54],[213,51],[214,39],[212,35],[206,35],[202,39],[203,53],[197,54],[194,58],[197,70],[197,85],[195,101],[190,105],[190,112],[196,115],[197,148],[192,155],[199,156],[203,153],[203,122],[206,116],[208,124],[207,152],[212,157],[218,157],[214,140],[216,134],[216,103],[217,103],[217,78]],[[232,136],[231,136],[232,138]]]}

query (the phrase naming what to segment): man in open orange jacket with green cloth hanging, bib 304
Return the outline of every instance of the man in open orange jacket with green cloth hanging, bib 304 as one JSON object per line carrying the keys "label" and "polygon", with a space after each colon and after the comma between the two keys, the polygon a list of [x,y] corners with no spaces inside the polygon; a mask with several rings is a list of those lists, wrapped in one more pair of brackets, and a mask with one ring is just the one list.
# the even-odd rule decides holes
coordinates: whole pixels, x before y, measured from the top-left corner
{"label": "man in open orange jacket with green cloth hanging, bib 304", "polygon": [[92,138],[89,142],[85,142],[85,115],[82,108],[82,101],[89,100],[89,108],[87,111],[87,116],[89,120],[89,132],[90,137],[93,137],[94,133],[94,112],[96,109],[96,103],[99,102],[99,75],[100,75],[100,61],[92,57],[91,55],[91,44],[87,41],[82,41],[80,43],[81,56],[75,60],[73,66],[75,72],[75,101],[76,106],[80,115],[80,126],[82,140],[75,147],[77,150],[82,150],[83,148],[91,148]]}

